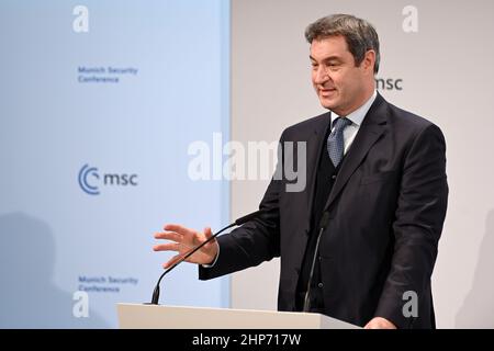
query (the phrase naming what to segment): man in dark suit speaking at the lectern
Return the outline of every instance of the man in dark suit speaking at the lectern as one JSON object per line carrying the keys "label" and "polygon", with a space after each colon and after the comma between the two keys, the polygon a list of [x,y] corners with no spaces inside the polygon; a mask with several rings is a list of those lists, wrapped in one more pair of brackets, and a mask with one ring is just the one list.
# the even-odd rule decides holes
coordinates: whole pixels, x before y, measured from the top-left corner
{"label": "man in dark suit speaking at the lectern", "polygon": [[[323,313],[366,328],[434,328],[430,276],[446,216],[446,145],[433,123],[375,91],[379,38],[367,21],[311,24],[312,80],[328,113],[287,128],[305,143],[307,183],[273,178],[262,214],[189,261],[212,279],[281,257],[280,310]],[[297,165],[282,154],[278,167]],[[288,159],[292,158],[292,159]],[[155,250],[179,253],[211,236],[168,225]],[[205,264],[205,265],[204,265]]]}

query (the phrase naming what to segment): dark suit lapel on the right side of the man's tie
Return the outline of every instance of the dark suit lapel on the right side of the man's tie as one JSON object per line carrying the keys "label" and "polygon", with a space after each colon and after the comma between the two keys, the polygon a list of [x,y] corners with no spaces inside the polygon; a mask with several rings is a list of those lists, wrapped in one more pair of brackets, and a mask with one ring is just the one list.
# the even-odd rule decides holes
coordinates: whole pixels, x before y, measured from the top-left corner
{"label": "dark suit lapel on the right side of the man's tie", "polygon": [[360,166],[366,155],[369,152],[372,145],[384,133],[384,125],[386,124],[386,102],[378,93],[374,103],[369,109],[366,118],[360,126],[353,143],[351,144],[348,154],[343,160],[341,169],[339,170],[336,182],[333,185],[333,190],[329,193],[329,197],[324,206],[326,211],[335,199],[339,195],[345,188],[348,179],[353,174],[355,170]]}

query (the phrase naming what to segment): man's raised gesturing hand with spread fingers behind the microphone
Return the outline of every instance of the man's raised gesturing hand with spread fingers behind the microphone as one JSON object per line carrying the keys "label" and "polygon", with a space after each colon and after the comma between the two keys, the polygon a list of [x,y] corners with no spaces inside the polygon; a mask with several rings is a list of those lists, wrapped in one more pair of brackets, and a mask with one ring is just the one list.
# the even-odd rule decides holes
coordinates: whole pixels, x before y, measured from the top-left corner
{"label": "man's raised gesturing hand with spread fingers behind the microphone", "polygon": [[[177,224],[167,224],[165,231],[155,234],[156,239],[170,240],[169,242],[158,244],[153,247],[155,251],[177,251],[178,254],[173,256],[168,262],[164,263],[165,269],[173,265],[187,253],[193,250],[195,247],[207,240],[213,234],[211,228],[205,228],[203,233],[193,229],[186,228]],[[214,261],[217,254],[216,239],[207,242],[198,250],[194,254],[189,257],[186,261],[199,264],[209,264]]]}

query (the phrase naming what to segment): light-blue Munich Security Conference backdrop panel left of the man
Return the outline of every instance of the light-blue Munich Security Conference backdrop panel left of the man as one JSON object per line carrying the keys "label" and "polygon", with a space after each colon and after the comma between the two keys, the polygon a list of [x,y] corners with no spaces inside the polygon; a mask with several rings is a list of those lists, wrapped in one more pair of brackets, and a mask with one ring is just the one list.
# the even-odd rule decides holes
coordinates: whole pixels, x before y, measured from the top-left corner
{"label": "light-blue Munich Security Conference backdrop panel left of the man", "polygon": [[[0,3],[0,327],[116,327],[171,257],[156,231],[226,224],[189,163],[228,137],[228,35],[222,0]],[[160,302],[227,307],[228,281],[183,264]]]}

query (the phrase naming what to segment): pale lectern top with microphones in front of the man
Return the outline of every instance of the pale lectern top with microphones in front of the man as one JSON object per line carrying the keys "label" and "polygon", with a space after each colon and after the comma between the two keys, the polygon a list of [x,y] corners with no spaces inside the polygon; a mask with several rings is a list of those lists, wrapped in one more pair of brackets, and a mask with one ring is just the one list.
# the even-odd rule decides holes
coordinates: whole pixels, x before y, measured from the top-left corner
{"label": "pale lectern top with microphones in front of the man", "polygon": [[357,329],[319,314],[117,304],[124,329]]}

